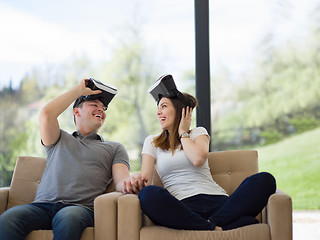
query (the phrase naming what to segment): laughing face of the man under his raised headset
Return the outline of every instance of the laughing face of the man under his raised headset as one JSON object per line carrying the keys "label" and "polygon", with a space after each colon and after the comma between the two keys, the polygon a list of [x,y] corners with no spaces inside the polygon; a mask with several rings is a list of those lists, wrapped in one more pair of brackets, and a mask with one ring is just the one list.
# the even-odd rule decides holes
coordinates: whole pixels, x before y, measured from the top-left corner
{"label": "laughing face of the man under his raised headset", "polygon": [[77,125],[97,131],[106,118],[105,106],[100,100],[84,101],[75,111]]}

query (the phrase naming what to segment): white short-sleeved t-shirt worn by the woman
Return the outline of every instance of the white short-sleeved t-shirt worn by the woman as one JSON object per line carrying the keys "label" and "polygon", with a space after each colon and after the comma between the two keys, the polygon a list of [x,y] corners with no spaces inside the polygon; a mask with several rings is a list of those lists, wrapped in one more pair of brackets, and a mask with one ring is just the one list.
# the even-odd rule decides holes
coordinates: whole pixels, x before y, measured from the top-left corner
{"label": "white short-sleeved t-shirt worn by the woman", "polygon": [[[203,127],[191,130],[190,138],[194,140],[200,135],[209,136]],[[156,159],[156,169],[163,186],[177,199],[182,200],[197,194],[225,195],[210,173],[208,159],[201,167],[195,167],[183,150],[178,147],[172,155],[171,150],[156,148],[152,143],[157,135],[148,136],[143,144],[142,154]]]}

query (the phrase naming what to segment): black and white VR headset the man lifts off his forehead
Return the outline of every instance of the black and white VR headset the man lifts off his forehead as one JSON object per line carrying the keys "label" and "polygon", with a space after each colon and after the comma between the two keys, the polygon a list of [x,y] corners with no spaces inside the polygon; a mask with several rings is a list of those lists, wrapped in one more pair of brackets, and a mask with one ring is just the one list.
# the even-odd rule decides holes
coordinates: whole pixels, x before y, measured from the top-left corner
{"label": "black and white VR headset the man lifts off his forehead", "polygon": [[79,106],[80,103],[83,101],[91,101],[91,100],[100,100],[103,105],[106,107],[106,110],[108,108],[109,103],[113,99],[113,97],[117,94],[118,90],[117,88],[104,84],[100,82],[99,80],[90,78],[87,86],[91,90],[101,90],[101,93],[93,94],[93,95],[86,95],[79,97],[73,104],[73,108],[76,108]]}

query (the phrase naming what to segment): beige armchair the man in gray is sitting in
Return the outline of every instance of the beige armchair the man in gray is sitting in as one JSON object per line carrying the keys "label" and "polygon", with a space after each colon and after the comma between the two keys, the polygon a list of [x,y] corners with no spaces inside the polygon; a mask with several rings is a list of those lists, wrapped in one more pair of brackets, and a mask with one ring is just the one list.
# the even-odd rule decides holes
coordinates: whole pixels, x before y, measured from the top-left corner
{"label": "beige armchair the man in gray is sitting in", "polygon": [[[10,187],[0,188],[0,214],[13,206],[34,200],[45,167],[45,158],[19,157],[17,159]],[[106,192],[111,191],[114,191],[113,183],[106,190]],[[95,226],[86,228],[81,240],[117,239],[117,199],[121,195],[119,192],[111,192],[95,199]],[[51,230],[32,231],[26,239],[52,240],[53,233]]]}

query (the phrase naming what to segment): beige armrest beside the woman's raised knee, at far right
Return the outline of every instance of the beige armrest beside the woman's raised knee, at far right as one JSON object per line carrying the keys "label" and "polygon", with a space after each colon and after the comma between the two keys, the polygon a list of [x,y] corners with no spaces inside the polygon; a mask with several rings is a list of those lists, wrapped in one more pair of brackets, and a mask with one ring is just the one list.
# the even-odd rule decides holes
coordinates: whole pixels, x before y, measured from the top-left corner
{"label": "beige armrest beside the woman's raised knee, at far right", "polygon": [[277,189],[266,207],[272,240],[292,240],[292,199]]}

